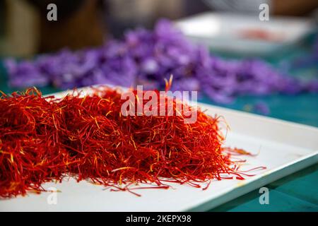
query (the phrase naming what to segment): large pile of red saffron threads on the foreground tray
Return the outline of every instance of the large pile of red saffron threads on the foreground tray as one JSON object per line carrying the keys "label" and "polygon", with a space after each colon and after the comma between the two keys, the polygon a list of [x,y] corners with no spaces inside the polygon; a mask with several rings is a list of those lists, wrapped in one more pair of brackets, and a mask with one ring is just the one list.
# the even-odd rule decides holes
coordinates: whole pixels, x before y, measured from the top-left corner
{"label": "large pile of red saffron threads on the foreground tray", "polygon": [[241,161],[230,157],[250,154],[223,148],[219,117],[200,110],[194,124],[176,114],[124,117],[119,90],[92,90],[60,99],[36,88],[1,94],[0,197],[40,193],[43,183],[64,177],[131,193],[139,183],[167,189],[165,182],[201,187],[211,179],[244,179]]}

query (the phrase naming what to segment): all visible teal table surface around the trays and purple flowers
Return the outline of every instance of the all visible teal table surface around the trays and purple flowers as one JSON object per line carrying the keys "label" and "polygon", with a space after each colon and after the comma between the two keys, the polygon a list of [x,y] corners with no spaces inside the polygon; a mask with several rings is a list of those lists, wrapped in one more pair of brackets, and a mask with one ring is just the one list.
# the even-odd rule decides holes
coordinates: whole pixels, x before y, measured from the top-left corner
{"label": "all visible teal table surface around the trays and purple flowers", "polygon": [[[310,52],[310,45],[302,44],[286,52],[272,54],[264,57],[271,64],[279,66],[283,61],[293,59]],[[233,57],[225,56],[223,57]],[[239,56],[241,58],[244,56]],[[237,58],[237,56],[236,56]],[[318,67],[318,64],[317,64]],[[293,71],[293,76],[312,78],[318,76],[318,69],[302,69]],[[4,66],[0,64],[0,90],[4,93],[16,91],[8,86],[8,79]],[[21,89],[20,89],[21,90]],[[43,94],[54,93],[56,88],[40,88]],[[201,97],[201,102],[218,105],[206,97]],[[266,97],[237,97],[230,105],[220,105],[231,109],[254,112],[253,106],[257,102],[264,102],[269,106],[269,117],[294,121],[318,127],[318,94],[300,95],[269,95]],[[259,113],[259,112],[254,112]],[[267,184],[269,188],[269,205],[259,203],[259,190],[255,190],[225,203],[211,211],[318,211],[318,164],[302,169],[300,172]]]}

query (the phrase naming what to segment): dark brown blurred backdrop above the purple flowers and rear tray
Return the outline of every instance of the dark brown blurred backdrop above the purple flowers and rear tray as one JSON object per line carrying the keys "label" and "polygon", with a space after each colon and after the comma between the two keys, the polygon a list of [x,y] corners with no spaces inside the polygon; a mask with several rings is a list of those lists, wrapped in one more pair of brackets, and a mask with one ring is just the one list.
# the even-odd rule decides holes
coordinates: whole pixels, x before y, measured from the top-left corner
{"label": "dark brown blurred backdrop above the purple flowers and rear tray", "polygon": [[[58,8],[55,22],[46,20],[49,3]],[[107,38],[122,37],[129,28],[153,28],[158,18],[178,20],[207,11],[250,14],[254,15],[250,20],[259,20],[261,3],[269,4],[273,16],[314,18],[318,7],[315,0],[4,0],[0,2],[0,54],[30,57],[62,47],[98,46]]]}

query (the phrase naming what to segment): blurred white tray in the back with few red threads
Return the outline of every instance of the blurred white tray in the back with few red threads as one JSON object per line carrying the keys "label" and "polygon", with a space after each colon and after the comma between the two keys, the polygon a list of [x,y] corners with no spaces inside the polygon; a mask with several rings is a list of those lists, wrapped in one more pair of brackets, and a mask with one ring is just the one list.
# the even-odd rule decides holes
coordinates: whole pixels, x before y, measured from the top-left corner
{"label": "blurred white tray in the back with few red threads", "polygon": [[[309,18],[270,16],[269,21],[259,15],[233,13],[200,13],[175,22],[190,40],[206,44],[211,49],[241,54],[269,54],[290,47],[314,30]],[[269,32],[279,40],[260,40],[242,37],[246,30]]]}

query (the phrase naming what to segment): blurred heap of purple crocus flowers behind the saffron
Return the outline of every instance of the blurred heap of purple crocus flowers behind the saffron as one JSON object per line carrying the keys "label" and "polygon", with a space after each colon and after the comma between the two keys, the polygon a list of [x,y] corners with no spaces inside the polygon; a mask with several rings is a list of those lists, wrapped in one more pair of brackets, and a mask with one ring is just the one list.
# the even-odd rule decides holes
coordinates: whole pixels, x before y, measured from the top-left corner
{"label": "blurred heap of purple crocus flowers behind the saffron", "polygon": [[129,30],[124,40],[71,52],[62,49],[33,61],[6,61],[9,84],[15,87],[55,85],[75,88],[107,83],[144,89],[198,90],[211,100],[231,102],[237,95],[317,93],[317,81],[300,81],[260,59],[228,60],[187,40],[169,20],[155,28]]}

